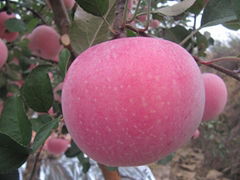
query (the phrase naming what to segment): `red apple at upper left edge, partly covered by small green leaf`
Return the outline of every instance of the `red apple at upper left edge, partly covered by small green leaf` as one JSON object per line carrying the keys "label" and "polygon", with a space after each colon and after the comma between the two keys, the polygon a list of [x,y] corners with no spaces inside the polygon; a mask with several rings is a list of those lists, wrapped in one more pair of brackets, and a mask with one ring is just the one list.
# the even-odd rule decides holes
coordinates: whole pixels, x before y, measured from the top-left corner
{"label": "red apple at upper left edge, partly covered by small green leaf", "polygon": [[15,18],[15,14],[7,14],[7,12],[3,11],[0,13],[0,38],[7,40],[8,42],[12,42],[17,39],[19,33],[18,32],[9,32],[5,28],[5,21]]}

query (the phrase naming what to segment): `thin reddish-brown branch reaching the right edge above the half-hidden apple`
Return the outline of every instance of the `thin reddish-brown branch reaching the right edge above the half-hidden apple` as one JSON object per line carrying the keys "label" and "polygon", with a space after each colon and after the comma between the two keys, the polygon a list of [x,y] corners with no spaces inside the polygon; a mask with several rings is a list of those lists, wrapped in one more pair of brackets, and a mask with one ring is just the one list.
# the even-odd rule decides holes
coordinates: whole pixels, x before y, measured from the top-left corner
{"label": "thin reddish-brown branch reaching the right edge above the half-hidden apple", "polygon": [[217,65],[217,64],[209,64],[209,63],[206,63],[206,62],[204,62],[203,60],[201,60],[200,58],[198,58],[198,57],[196,57],[196,56],[193,56],[193,58],[194,58],[195,61],[196,61],[197,63],[199,63],[199,64],[203,64],[203,65],[205,65],[205,66],[208,66],[208,67],[211,67],[211,68],[213,68],[213,69],[216,69],[216,70],[218,70],[218,71],[220,71],[220,72],[222,72],[222,73],[224,73],[224,74],[226,74],[226,75],[228,75],[228,76],[231,76],[232,78],[240,81],[240,77],[239,77],[239,76],[237,75],[237,73],[234,72],[234,71],[231,71],[231,70],[229,70],[229,69],[226,69],[226,68],[224,68],[224,67],[222,67],[222,66],[219,66],[219,65]]}

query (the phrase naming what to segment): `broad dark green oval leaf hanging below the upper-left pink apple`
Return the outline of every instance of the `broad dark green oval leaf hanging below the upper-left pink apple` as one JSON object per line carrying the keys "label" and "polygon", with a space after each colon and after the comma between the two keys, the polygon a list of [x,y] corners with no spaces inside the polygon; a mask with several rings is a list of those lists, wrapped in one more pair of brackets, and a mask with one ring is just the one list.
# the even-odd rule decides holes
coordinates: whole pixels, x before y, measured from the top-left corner
{"label": "broad dark green oval leaf hanging below the upper-left pink apple", "polygon": [[22,88],[26,103],[37,112],[47,112],[53,103],[52,85],[47,74],[49,68],[42,65],[33,69]]}

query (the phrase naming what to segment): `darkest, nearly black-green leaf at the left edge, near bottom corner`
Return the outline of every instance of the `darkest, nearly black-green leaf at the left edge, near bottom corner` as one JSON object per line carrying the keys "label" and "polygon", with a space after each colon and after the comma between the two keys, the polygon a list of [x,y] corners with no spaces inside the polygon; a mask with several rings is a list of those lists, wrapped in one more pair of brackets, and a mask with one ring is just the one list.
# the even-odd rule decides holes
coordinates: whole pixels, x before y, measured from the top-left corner
{"label": "darkest, nearly black-green leaf at the left edge, near bottom corner", "polygon": [[30,151],[1,132],[0,139],[0,173],[7,173],[19,168],[27,160]]}

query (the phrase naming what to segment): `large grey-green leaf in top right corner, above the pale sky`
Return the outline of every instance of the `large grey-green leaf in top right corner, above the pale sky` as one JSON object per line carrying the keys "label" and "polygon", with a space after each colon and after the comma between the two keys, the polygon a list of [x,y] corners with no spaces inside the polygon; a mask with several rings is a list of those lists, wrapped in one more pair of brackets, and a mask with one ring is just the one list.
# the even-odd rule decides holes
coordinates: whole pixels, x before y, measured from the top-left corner
{"label": "large grey-green leaf in top right corner, above the pale sky", "polygon": [[237,20],[229,1],[211,0],[203,11],[201,26],[213,26]]}

